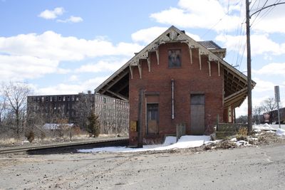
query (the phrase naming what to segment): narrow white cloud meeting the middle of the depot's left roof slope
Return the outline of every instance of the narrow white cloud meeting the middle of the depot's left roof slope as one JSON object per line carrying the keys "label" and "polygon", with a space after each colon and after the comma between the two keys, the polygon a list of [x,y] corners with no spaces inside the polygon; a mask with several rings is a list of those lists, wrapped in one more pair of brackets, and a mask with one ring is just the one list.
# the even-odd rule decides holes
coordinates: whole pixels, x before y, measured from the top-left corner
{"label": "narrow white cloud meeting the middle of the depot's left roof slope", "polygon": [[76,73],[99,73],[106,71],[115,71],[118,70],[123,64],[127,63],[128,59],[115,60],[100,60],[98,63],[88,63],[82,65],[80,68],[76,69]]}

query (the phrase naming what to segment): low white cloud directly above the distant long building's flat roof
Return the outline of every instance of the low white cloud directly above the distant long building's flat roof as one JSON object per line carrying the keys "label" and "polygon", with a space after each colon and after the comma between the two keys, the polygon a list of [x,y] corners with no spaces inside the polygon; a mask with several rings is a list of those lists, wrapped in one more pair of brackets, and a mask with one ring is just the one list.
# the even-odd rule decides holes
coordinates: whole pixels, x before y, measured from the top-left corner
{"label": "low white cloud directly above the distant long building's flat roof", "polygon": [[60,83],[58,85],[52,85],[46,88],[36,88],[36,95],[64,95],[64,94],[77,94],[80,92],[86,92],[87,90],[93,90],[103,83],[108,77],[91,78],[80,84],[65,84]]}

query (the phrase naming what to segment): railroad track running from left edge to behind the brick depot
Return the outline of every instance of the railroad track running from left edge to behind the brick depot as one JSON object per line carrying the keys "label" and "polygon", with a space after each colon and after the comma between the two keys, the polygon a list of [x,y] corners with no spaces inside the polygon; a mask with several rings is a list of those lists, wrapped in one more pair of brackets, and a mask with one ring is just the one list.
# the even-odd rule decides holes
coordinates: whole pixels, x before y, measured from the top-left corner
{"label": "railroad track running from left edge to behind the brick depot", "polygon": [[29,147],[14,147],[0,149],[0,154],[16,153],[16,152],[36,152],[48,151],[52,149],[76,149],[76,148],[92,148],[105,147],[108,145],[128,145],[128,137],[115,137],[110,139],[94,139],[81,142],[62,142],[56,144],[44,144]]}

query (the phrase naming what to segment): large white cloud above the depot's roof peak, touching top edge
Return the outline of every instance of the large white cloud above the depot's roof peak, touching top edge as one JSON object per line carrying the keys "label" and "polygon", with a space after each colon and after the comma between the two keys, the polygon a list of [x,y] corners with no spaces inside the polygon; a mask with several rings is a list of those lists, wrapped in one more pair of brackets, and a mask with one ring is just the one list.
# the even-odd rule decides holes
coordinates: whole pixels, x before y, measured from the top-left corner
{"label": "large white cloud above the depot's roof peak, touching top edge", "polygon": [[[217,0],[180,0],[178,8],[160,11],[150,15],[159,23],[175,25],[183,28],[207,28],[214,31],[232,31],[242,19],[237,14],[227,14],[225,2]],[[232,1],[229,11],[237,10],[237,1]],[[216,25],[217,23],[217,25]],[[214,27],[213,27],[214,26]]]}

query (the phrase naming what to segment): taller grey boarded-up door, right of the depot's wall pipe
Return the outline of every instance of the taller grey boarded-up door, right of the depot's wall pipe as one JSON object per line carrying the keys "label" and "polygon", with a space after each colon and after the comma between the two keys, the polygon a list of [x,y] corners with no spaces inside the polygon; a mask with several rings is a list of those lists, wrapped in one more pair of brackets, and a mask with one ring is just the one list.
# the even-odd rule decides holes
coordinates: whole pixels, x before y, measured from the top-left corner
{"label": "taller grey boarded-up door, right of the depot's wall pipe", "polygon": [[192,94],[191,102],[191,134],[204,134],[204,95]]}

